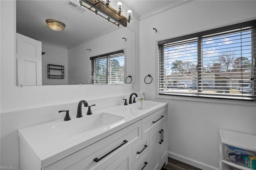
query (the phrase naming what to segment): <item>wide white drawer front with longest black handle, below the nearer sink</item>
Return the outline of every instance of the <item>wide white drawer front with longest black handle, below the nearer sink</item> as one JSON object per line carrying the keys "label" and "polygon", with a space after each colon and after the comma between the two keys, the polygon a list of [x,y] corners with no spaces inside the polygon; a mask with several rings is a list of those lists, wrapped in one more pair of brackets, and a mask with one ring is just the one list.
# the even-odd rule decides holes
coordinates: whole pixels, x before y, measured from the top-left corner
{"label": "wide white drawer front with longest black handle, below the nearer sink", "polygon": [[[44,170],[104,169],[132,148],[132,146],[140,142],[140,140],[141,121],[138,121],[50,166],[47,166]],[[98,162],[95,162],[94,160],[97,158]]]}

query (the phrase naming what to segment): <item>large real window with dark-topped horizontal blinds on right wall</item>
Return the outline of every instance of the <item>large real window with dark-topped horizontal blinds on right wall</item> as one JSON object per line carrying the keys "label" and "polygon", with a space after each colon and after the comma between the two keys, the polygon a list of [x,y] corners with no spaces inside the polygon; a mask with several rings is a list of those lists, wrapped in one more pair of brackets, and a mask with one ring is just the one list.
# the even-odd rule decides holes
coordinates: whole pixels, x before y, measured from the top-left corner
{"label": "large real window with dark-topped horizontal blinds on right wall", "polygon": [[158,42],[158,93],[255,100],[256,20]]}

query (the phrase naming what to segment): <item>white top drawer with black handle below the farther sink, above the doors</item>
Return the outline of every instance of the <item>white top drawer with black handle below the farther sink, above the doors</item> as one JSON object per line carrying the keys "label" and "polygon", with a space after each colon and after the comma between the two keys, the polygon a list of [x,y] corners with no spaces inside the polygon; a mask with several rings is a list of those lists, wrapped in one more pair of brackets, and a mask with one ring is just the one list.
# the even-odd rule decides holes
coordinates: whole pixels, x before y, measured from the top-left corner
{"label": "white top drawer with black handle below the farther sink, above the doors", "polygon": [[164,107],[155,113],[142,119],[142,138],[147,136],[154,128],[167,120],[168,107]]}

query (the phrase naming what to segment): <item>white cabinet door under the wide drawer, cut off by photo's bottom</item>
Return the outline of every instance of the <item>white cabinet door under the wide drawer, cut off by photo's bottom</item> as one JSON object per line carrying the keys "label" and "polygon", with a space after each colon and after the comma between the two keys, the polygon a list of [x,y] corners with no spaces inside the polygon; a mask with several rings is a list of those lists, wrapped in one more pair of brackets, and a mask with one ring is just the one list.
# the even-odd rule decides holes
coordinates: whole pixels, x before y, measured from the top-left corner
{"label": "white cabinet door under the wide drawer, cut off by photo's bottom", "polygon": [[130,170],[132,169],[132,149],[128,150],[105,170]]}

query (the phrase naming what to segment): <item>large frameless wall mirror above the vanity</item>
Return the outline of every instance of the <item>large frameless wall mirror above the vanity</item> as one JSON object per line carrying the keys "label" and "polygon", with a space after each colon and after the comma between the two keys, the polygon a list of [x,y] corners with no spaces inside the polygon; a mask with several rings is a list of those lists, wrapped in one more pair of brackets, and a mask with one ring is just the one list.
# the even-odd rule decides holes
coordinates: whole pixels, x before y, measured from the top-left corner
{"label": "large frameless wall mirror above the vanity", "polygon": [[[16,1],[17,85],[90,84],[90,57],[118,50],[124,50],[124,79],[132,76],[127,81],[135,83],[135,33],[74,3]],[[62,22],[64,30],[48,28],[48,19]]]}

